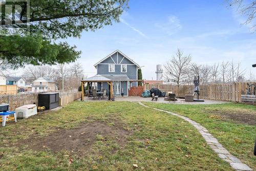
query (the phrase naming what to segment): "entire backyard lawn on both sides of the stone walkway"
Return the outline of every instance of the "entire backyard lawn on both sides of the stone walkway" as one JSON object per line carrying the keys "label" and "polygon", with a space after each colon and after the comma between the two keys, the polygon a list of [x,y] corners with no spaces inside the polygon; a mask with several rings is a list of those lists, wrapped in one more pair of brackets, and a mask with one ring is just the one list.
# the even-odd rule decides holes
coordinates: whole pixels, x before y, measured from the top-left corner
{"label": "entire backyard lawn on both sides of the stone walkway", "polygon": [[[210,118],[230,110],[255,117],[254,106],[144,104],[201,123],[255,168],[255,124]],[[191,124],[137,102],[72,102],[7,123],[0,142],[0,170],[233,170]]]}

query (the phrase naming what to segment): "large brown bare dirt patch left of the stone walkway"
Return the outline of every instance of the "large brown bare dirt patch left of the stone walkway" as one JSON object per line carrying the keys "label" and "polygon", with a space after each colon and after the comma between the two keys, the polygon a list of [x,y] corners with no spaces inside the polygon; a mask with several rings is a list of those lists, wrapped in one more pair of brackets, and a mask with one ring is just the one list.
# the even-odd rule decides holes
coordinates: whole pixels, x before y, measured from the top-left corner
{"label": "large brown bare dirt patch left of the stone walkway", "polygon": [[94,121],[82,123],[75,129],[58,130],[45,137],[30,137],[18,141],[17,145],[28,145],[28,148],[35,151],[51,149],[54,152],[65,150],[84,154],[96,141],[113,140],[124,146],[130,134],[132,132],[122,129],[120,124],[109,126],[105,122]]}

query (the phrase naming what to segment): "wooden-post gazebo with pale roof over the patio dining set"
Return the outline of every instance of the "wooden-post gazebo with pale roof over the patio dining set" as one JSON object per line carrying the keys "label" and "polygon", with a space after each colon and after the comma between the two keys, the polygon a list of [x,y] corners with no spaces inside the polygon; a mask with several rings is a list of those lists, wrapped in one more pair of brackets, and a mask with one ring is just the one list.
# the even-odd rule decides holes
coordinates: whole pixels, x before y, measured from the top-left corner
{"label": "wooden-post gazebo with pale roof over the patio dining set", "polygon": [[93,82],[107,82],[110,85],[110,98],[113,98],[113,89],[112,89],[113,81],[109,78],[104,77],[104,76],[95,75],[93,77],[81,80],[81,89],[82,89],[81,100],[82,101],[84,100],[84,98],[83,98],[83,96],[84,96],[84,84],[86,82],[89,84],[89,94],[90,94],[90,90],[92,88],[92,83]]}

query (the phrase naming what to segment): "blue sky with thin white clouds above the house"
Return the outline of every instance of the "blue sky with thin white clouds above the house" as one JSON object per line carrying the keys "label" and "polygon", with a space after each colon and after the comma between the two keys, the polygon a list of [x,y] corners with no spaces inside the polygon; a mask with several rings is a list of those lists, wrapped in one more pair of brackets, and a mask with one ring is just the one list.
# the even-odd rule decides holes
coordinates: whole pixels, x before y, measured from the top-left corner
{"label": "blue sky with thin white clouds above the house", "polygon": [[156,79],[156,64],[164,64],[177,48],[191,54],[194,62],[241,61],[243,68],[256,74],[256,33],[236,9],[225,0],[171,1],[130,0],[130,9],[120,23],[95,32],[83,32],[80,39],[68,38],[82,51],[78,59],[84,74],[93,76],[93,65],[120,50],[142,68],[144,79]]}

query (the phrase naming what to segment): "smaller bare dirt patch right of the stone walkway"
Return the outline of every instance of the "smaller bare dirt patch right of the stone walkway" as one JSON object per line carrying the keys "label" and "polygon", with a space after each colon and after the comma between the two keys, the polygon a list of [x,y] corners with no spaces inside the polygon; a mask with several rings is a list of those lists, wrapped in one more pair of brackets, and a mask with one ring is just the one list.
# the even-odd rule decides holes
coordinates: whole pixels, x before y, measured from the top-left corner
{"label": "smaller bare dirt patch right of the stone walkway", "polygon": [[223,120],[232,120],[237,123],[256,125],[256,112],[216,110],[212,111],[211,113],[222,116]]}

